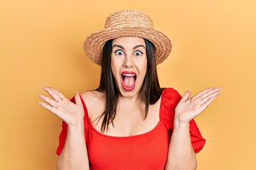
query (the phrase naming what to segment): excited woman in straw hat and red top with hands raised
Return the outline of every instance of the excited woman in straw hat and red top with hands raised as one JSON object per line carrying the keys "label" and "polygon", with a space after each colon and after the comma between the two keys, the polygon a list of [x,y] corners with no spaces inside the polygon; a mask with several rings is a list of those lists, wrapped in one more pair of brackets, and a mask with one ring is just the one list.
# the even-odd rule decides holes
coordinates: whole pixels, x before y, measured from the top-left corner
{"label": "excited woman in straw hat and red top with hands raised", "polygon": [[51,87],[40,102],[63,120],[58,169],[196,169],[205,140],[196,118],[220,94],[209,88],[190,98],[161,89],[156,65],[171,42],[149,16],[119,11],[105,29],[85,40],[85,52],[102,67],[100,86],[68,100]]}

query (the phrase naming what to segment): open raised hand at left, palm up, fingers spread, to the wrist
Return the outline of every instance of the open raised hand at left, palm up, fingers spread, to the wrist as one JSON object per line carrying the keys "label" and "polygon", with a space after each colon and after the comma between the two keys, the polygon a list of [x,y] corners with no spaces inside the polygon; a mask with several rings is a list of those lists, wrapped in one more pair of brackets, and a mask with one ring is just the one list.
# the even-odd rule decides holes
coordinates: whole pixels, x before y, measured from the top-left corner
{"label": "open raised hand at left, palm up, fingers spread, to the wrist", "polygon": [[82,123],[84,111],[78,93],[75,94],[75,103],[72,103],[68,98],[52,87],[43,86],[42,88],[47,91],[52,98],[39,94],[38,96],[42,98],[43,101],[47,102],[39,102],[41,106],[55,115],[58,115],[69,127],[76,127],[78,123]]}

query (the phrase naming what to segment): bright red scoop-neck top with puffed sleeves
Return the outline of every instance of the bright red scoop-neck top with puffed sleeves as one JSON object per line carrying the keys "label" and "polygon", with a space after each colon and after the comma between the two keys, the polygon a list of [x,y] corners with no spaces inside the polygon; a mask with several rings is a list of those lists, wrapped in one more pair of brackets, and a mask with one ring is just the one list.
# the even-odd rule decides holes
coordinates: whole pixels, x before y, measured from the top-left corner
{"label": "bright red scoop-neck top with puffed sleeves", "polygon": [[[174,128],[174,109],[181,95],[174,89],[164,89],[161,94],[159,123],[153,130],[142,135],[113,137],[103,135],[90,123],[87,108],[85,111],[85,141],[91,170],[98,169],[164,169],[168,155],[171,132]],[[75,101],[74,98],[71,101]],[[67,125],[63,122],[60,143],[56,153],[59,155],[65,145]],[[194,120],[190,122],[191,143],[197,153],[205,144]]]}

